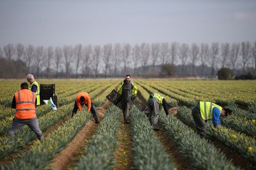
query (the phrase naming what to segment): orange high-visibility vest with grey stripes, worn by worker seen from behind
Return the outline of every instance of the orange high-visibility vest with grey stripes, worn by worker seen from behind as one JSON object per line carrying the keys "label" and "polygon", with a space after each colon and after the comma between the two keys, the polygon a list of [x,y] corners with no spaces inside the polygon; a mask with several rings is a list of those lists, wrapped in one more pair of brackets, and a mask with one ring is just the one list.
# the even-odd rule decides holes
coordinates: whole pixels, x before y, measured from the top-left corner
{"label": "orange high-visibility vest with grey stripes, worn by worker seen from behind", "polygon": [[36,117],[36,94],[28,89],[15,92],[16,112],[15,117],[19,119],[30,119]]}

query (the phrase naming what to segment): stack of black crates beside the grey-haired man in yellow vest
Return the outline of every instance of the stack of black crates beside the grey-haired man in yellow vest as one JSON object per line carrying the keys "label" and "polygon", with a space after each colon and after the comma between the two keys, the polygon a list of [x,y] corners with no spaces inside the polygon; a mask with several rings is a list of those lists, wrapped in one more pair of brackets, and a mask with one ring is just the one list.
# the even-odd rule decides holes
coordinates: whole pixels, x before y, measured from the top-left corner
{"label": "stack of black crates beside the grey-haired man in yellow vest", "polygon": [[43,100],[49,100],[52,97],[53,103],[57,105],[57,96],[55,94],[55,84],[40,84],[40,104],[45,104]]}

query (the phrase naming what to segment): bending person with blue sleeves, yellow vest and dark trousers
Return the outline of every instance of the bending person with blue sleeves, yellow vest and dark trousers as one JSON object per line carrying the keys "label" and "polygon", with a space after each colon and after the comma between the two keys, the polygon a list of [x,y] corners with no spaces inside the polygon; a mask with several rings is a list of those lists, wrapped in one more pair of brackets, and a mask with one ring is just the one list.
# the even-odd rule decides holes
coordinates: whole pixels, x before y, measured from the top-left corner
{"label": "bending person with blue sleeves, yellow vest and dark trousers", "polygon": [[196,131],[201,137],[205,137],[205,123],[212,119],[214,127],[220,127],[220,117],[227,117],[232,113],[229,108],[222,108],[221,106],[200,101],[192,110],[192,116],[196,125]]}

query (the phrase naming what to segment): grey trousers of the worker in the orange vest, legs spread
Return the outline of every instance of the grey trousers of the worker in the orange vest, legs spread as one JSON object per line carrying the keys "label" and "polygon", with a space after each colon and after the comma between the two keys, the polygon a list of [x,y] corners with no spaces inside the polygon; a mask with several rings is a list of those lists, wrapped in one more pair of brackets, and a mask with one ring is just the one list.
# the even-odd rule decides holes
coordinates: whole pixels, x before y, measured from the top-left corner
{"label": "grey trousers of the worker in the orange vest, legs spread", "polygon": [[15,131],[23,127],[24,125],[28,125],[28,127],[35,132],[37,138],[39,140],[44,138],[44,135],[42,134],[42,131],[40,130],[38,118],[30,118],[30,119],[19,119],[19,118],[13,118],[12,121],[12,127],[10,131],[8,132],[9,136],[12,136]]}

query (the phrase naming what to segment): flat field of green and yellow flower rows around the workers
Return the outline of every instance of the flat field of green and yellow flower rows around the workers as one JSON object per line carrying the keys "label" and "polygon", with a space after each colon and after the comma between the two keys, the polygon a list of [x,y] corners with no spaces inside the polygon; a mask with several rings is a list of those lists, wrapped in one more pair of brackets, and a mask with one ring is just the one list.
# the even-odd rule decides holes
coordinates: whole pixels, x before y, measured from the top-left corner
{"label": "flat field of green and yellow flower rows around the workers", "polygon": [[[256,81],[136,79],[138,98],[161,94],[177,115],[159,116],[154,131],[145,113],[131,108],[130,124],[106,96],[122,79],[36,80],[56,85],[58,110],[38,106],[36,114],[45,134],[38,141],[23,127],[8,136],[15,110],[13,94],[22,81],[0,81],[1,169],[256,169]],[[76,94],[88,92],[100,124],[79,111],[71,118]],[[233,110],[221,118],[221,128],[207,123],[207,137],[195,132],[191,110],[198,101],[211,101]]]}

